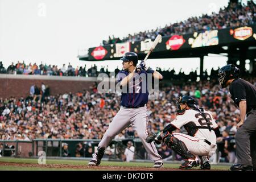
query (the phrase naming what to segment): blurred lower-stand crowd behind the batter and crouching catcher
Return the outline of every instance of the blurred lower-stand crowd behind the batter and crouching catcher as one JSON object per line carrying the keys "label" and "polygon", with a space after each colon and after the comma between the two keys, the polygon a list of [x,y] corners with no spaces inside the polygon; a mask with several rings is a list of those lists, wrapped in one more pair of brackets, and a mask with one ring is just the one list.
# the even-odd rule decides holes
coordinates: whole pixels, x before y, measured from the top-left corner
{"label": "blurred lower-stand crowd behind the batter and crouching catcher", "polygon": [[[247,80],[256,86],[255,77]],[[159,133],[163,130],[175,118],[176,98],[185,94],[195,97],[199,106],[212,111],[221,132],[226,132],[219,140],[236,133],[240,111],[234,106],[228,89],[221,90],[216,80],[162,85],[159,98],[150,100],[147,105],[148,131]],[[119,110],[119,100],[118,94],[98,93],[96,84],[75,94],[0,98],[0,139],[101,139]],[[133,127],[128,127],[115,137],[125,138],[138,138],[138,134]],[[166,150],[163,148],[160,146],[160,150]]]}

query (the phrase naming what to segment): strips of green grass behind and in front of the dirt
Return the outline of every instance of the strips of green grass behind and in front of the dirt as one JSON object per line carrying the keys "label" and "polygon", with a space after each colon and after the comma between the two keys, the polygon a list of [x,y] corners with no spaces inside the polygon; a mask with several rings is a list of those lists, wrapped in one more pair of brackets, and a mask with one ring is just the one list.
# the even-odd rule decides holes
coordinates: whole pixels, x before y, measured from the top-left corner
{"label": "strips of green grass behind and in front of the dirt", "polygon": [[[24,164],[38,164],[38,159],[20,159],[20,158],[0,158],[0,162],[6,163],[24,163]],[[46,164],[69,164],[75,166],[84,166],[85,168],[46,168],[46,167],[25,167],[25,166],[1,166],[0,170],[92,170],[87,168],[88,160],[60,160],[60,159],[46,159]],[[113,167],[152,167],[153,163],[151,162],[110,162],[110,161],[102,161],[101,166],[113,166]],[[176,168],[178,169],[180,164],[174,163],[164,163],[164,168]],[[214,170],[229,170],[230,166],[223,165],[212,165],[212,169]],[[197,167],[199,168],[199,167]],[[195,168],[196,169],[196,168]],[[99,170],[102,170],[99,168]],[[104,169],[106,170],[106,169]]]}

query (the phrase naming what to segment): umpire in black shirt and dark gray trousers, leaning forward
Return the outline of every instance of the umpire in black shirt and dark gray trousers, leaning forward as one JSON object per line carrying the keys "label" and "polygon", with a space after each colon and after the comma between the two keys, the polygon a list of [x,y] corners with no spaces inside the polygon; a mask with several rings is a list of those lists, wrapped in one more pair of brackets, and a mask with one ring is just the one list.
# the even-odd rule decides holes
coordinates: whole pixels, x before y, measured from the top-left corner
{"label": "umpire in black shirt and dark gray trousers, leaning forward", "polygon": [[233,64],[218,71],[221,88],[229,86],[231,98],[240,109],[241,120],[237,123],[236,133],[238,164],[230,170],[251,171],[256,170],[256,89],[239,76],[240,70]]}

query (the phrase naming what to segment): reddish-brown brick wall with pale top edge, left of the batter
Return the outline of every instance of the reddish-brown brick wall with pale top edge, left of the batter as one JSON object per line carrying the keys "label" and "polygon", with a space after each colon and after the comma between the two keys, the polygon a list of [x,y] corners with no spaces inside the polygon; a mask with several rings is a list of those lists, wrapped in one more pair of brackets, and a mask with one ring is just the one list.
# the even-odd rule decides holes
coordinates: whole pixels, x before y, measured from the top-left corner
{"label": "reddish-brown brick wall with pale top edge, left of the batter", "polygon": [[36,84],[41,88],[42,82],[49,86],[51,95],[76,93],[89,89],[94,81],[97,81],[97,78],[0,74],[0,98],[27,97],[30,86]]}

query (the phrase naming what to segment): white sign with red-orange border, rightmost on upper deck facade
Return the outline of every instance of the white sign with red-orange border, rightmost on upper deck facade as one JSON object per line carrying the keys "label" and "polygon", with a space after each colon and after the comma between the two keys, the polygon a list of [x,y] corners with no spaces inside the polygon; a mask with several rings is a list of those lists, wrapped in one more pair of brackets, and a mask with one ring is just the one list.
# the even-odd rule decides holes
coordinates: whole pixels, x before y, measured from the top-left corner
{"label": "white sign with red-orange border, rightmost on upper deck facade", "polygon": [[253,35],[253,28],[251,27],[240,27],[235,30],[229,31],[230,35],[233,35],[235,39],[245,40],[248,39],[251,35]]}

